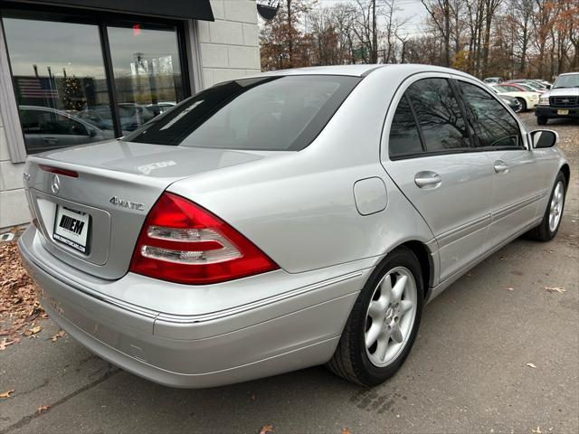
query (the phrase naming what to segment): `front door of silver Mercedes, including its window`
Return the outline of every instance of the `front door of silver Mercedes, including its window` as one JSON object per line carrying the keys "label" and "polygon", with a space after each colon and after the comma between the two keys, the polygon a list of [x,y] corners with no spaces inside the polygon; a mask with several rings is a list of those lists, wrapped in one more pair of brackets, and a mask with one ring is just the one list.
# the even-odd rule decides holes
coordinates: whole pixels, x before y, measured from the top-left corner
{"label": "front door of silver Mercedes, including its window", "polygon": [[537,204],[548,192],[516,115],[476,82],[457,78],[457,83],[475,147],[489,157],[493,171],[489,250],[535,222]]}

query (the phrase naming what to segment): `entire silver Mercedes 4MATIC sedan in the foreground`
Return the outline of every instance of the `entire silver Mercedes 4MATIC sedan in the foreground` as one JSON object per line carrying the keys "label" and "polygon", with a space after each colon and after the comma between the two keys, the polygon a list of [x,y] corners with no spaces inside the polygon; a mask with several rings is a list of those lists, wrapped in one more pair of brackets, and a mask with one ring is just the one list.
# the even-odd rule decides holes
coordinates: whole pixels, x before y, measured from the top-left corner
{"label": "entire silver Mercedes 4MATIC sedan in the foreground", "polygon": [[52,319],[131,373],[210,387],[327,363],[374,385],[428,301],[555,236],[555,142],[459,71],[275,71],[29,156],[19,246]]}

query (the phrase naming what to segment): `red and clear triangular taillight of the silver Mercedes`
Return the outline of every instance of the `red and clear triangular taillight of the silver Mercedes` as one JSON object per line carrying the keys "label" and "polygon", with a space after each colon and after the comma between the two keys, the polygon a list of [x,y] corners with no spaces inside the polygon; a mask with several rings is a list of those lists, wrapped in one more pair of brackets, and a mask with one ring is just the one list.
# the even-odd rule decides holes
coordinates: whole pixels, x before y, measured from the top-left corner
{"label": "red and clear triangular taillight of the silver Mercedes", "polygon": [[279,267],[252,241],[199,205],[163,193],[147,215],[130,271],[202,285]]}

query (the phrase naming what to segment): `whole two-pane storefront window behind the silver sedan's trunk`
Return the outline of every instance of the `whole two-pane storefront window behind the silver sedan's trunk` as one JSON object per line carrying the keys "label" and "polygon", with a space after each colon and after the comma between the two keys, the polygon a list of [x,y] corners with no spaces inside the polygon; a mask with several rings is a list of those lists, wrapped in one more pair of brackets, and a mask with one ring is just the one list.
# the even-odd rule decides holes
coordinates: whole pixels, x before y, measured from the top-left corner
{"label": "whole two-pane storefront window behind the silver sedan's trunk", "polygon": [[123,136],[188,96],[177,24],[3,9],[2,25],[28,154]]}

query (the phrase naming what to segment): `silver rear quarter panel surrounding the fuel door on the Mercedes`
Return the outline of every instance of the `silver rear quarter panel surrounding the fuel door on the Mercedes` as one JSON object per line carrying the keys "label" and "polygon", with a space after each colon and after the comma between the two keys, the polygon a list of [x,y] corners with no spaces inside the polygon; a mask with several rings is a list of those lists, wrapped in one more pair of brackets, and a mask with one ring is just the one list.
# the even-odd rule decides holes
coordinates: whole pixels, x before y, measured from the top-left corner
{"label": "silver rear quarter panel surrounding the fuel door on the Mercedes", "polygon": [[[290,273],[377,261],[404,241],[431,241],[379,162],[386,110],[406,75],[387,70],[365,77],[303,151],[194,176],[168,190],[214,212]],[[363,216],[353,188],[373,176],[384,181],[388,203]]]}

